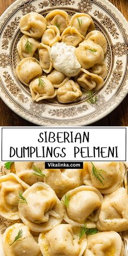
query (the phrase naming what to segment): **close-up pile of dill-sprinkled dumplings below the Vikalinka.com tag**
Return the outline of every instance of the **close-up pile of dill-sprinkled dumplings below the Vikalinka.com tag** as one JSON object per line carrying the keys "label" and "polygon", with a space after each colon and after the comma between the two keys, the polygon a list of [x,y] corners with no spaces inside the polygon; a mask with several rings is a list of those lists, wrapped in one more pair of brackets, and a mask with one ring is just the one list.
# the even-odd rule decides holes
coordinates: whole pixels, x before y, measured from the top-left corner
{"label": "close-up pile of dill-sprinkled dumplings below the Vikalinka.com tag", "polygon": [[[122,162],[54,170],[44,162],[12,163],[0,177],[0,214],[22,223],[4,232],[5,255],[124,256],[118,232],[128,229],[125,172]],[[97,232],[80,234],[85,227]]]}

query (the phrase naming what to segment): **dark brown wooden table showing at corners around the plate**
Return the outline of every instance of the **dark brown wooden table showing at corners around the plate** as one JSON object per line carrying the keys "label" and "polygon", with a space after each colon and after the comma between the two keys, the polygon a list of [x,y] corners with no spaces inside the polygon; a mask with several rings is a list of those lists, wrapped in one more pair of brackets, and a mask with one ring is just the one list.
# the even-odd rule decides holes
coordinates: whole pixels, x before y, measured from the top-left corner
{"label": "dark brown wooden table showing at corners around the plate", "polygon": [[[0,0],[0,14],[2,14],[15,0]],[[128,0],[110,0],[128,20]],[[107,117],[101,119],[93,126],[128,126],[128,96]],[[0,125],[1,126],[33,126],[23,118],[12,112],[0,99]]]}

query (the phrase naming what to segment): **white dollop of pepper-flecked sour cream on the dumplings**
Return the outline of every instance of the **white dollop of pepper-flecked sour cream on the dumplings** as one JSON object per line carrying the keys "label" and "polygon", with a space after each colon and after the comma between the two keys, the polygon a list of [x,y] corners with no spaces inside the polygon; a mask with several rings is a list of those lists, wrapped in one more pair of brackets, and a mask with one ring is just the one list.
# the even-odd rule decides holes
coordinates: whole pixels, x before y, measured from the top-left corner
{"label": "white dollop of pepper-flecked sour cream on the dumplings", "polygon": [[80,72],[81,65],[75,56],[75,47],[67,46],[66,43],[54,43],[50,56],[53,67],[68,77],[75,76]]}

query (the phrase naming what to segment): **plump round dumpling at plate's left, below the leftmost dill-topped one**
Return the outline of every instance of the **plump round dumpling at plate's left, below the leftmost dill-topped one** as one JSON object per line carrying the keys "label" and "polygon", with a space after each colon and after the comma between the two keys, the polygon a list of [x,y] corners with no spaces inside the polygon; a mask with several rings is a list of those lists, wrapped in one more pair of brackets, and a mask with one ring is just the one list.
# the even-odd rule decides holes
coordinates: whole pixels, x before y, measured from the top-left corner
{"label": "plump round dumpling at plate's left, below the leftmost dill-topped one", "polygon": [[42,75],[42,68],[34,57],[27,57],[18,63],[16,67],[16,74],[18,79],[24,84],[29,86],[29,83],[36,76]]}

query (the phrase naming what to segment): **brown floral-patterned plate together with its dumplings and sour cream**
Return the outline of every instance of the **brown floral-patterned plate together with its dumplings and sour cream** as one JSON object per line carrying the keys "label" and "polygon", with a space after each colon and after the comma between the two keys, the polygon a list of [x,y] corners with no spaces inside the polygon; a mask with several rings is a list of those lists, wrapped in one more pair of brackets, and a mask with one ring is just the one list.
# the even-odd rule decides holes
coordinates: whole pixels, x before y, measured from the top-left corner
{"label": "brown floral-patterned plate together with its dumplings and sour cream", "polygon": [[89,125],[127,94],[127,22],[107,0],[17,0],[0,19],[1,98],[36,125]]}

